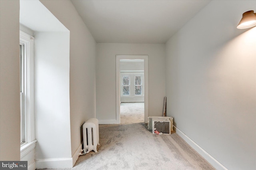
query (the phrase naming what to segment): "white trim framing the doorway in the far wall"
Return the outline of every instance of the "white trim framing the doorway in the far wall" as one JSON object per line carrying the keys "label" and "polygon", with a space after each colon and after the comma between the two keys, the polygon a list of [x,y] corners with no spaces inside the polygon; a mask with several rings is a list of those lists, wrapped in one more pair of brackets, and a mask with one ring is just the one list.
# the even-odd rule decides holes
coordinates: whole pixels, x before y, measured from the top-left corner
{"label": "white trim framing the doorway in the far wall", "polygon": [[116,124],[120,124],[120,59],[144,59],[144,123],[148,122],[148,55],[116,55]]}

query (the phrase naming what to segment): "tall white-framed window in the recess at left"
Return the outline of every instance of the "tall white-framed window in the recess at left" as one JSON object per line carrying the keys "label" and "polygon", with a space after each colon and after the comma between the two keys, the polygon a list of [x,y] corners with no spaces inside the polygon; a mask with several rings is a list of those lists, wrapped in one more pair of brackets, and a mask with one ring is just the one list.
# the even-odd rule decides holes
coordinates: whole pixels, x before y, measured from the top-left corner
{"label": "tall white-framed window in the recess at left", "polygon": [[[32,138],[31,138],[32,136]],[[34,38],[20,31],[20,144],[34,138]]]}

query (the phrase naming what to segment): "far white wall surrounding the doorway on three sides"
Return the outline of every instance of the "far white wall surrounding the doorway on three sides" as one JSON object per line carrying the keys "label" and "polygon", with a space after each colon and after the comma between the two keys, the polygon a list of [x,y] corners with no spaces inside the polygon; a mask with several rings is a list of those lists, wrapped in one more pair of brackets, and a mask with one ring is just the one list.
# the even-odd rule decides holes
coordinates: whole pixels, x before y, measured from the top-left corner
{"label": "far white wall surrounding the doorway on three sides", "polygon": [[149,116],[162,115],[165,96],[165,45],[98,43],[96,56],[96,115],[116,120],[116,55],[149,56]]}

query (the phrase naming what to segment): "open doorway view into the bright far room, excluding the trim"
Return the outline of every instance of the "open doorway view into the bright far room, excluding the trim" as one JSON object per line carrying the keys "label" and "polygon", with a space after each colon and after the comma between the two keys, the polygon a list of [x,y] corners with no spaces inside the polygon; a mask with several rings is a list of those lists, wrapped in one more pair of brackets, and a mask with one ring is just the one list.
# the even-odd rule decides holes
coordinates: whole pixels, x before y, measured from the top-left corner
{"label": "open doorway view into the bright far room, excluding the trim", "polygon": [[120,59],[120,123],[144,122],[144,59]]}

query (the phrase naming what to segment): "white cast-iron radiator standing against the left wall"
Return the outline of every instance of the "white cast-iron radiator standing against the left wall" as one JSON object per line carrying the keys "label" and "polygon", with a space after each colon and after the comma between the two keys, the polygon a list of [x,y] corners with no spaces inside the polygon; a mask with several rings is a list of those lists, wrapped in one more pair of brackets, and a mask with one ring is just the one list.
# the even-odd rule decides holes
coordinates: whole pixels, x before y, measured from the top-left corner
{"label": "white cast-iron radiator standing against the left wall", "polygon": [[84,138],[84,152],[89,153],[94,150],[97,151],[99,143],[99,121],[92,118],[86,121],[83,125],[83,138]]}

